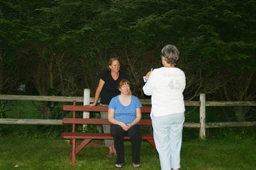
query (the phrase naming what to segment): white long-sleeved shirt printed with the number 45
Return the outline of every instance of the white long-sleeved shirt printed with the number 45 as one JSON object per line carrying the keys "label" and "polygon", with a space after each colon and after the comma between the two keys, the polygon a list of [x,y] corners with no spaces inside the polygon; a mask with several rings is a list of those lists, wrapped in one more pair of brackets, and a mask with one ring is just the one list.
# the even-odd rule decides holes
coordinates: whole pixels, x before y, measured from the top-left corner
{"label": "white long-sleeved shirt printed with the number 45", "polygon": [[164,116],[185,111],[183,91],[185,73],[179,68],[161,67],[153,70],[143,87],[145,95],[151,97],[151,114]]}

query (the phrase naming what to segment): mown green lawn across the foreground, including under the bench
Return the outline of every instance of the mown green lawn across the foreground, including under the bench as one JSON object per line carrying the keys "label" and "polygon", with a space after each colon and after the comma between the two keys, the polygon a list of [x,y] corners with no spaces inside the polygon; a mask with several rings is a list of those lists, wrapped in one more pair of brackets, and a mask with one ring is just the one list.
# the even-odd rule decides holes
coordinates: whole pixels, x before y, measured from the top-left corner
{"label": "mown green lawn across the foreground, including under the bench", "polygon": [[[87,146],[71,166],[67,141],[60,138],[0,137],[0,169],[115,169],[115,157],[108,158],[107,148],[101,141],[97,146]],[[125,142],[126,165],[131,166],[131,144]],[[256,169],[256,140],[185,139],[182,144],[182,169]],[[141,167],[160,169],[157,151],[143,141]]]}

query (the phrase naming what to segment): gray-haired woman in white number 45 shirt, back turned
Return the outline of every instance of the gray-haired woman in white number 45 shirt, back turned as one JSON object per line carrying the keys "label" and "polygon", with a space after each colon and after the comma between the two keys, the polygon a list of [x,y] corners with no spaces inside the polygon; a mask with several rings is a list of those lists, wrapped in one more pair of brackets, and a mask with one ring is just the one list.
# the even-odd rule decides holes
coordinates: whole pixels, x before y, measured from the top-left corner
{"label": "gray-haired woman in white number 45 shirt, back turned", "polygon": [[185,74],[176,68],[179,54],[175,45],[166,45],[161,50],[163,67],[148,72],[143,87],[144,93],[151,95],[150,116],[162,170],[180,168]]}

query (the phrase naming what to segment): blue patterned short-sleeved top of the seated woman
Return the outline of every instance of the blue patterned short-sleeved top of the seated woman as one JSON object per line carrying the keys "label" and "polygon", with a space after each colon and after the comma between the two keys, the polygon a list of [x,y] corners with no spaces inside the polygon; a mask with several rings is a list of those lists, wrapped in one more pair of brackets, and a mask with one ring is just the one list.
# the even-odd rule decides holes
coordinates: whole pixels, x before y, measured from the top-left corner
{"label": "blue patterned short-sleeved top of the seated woman", "polygon": [[132,123],[136,118],[136,109],[142,107],[139,98],[132,95],[129,105],[124,106],[121,104],[119,95],[113,97],[108,105],[108,108],[114,109],[115,120],[121,121],[126,124]]}

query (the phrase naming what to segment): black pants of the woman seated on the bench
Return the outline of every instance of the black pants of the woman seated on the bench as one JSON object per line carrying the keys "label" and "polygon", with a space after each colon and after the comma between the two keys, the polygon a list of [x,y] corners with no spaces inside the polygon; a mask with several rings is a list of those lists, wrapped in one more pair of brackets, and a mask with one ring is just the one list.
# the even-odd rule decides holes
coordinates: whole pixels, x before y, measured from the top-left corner
{"label": "black pants of the woman seated on the bench", "polygon": [[140,125],[134,125],[130,130],[125,131],[119,125],[111,125],[110,133],[113,135],[115,149],[117,151],[116,164],[124,163],[124,135],[128,135],[132,142],[132,162],[140,163],[141,154],[141,128]]}

